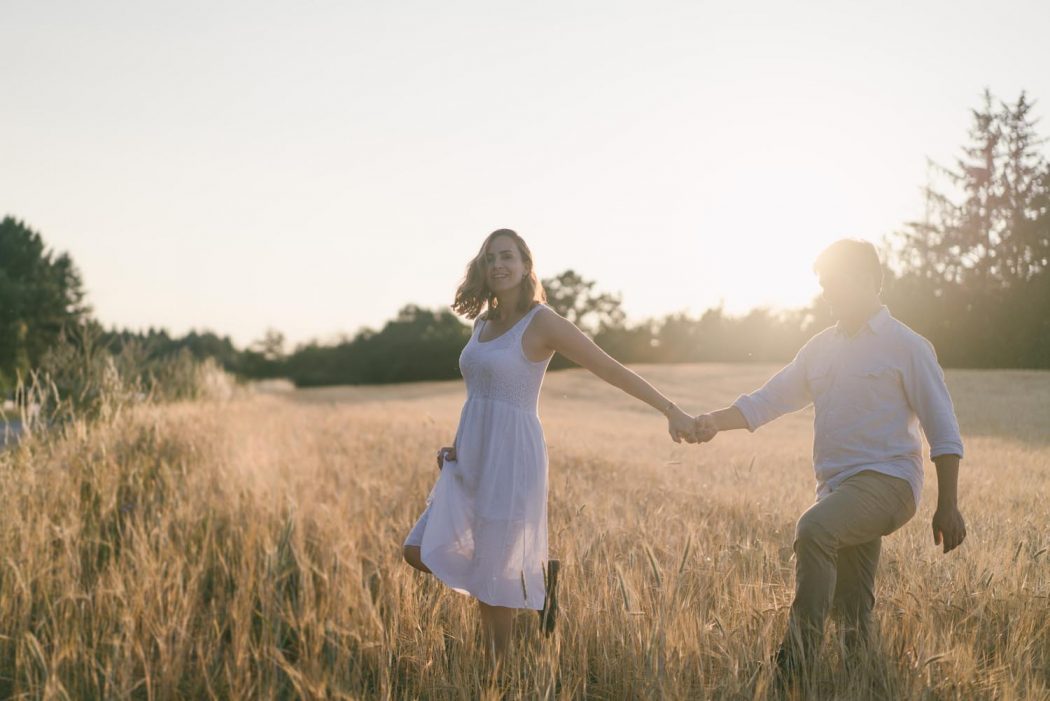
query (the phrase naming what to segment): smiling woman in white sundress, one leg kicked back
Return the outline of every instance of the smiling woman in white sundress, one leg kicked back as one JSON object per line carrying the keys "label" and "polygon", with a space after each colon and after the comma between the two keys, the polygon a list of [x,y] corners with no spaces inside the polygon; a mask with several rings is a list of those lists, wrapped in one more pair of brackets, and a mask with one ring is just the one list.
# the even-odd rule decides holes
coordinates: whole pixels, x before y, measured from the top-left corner
{"label": "smiling woman in white sundress, one leg kicked back", "polygon": [[502,658],[516,609],[544,608],[547,449],[537,413],[544,373],[561,353],[662,411],[675,442],[693,418],[544,304],[528,246],[500,229],[467,267],[453,309],[475,319],[460,356],[467,400],[404,559],[478,599],[487,644]]}

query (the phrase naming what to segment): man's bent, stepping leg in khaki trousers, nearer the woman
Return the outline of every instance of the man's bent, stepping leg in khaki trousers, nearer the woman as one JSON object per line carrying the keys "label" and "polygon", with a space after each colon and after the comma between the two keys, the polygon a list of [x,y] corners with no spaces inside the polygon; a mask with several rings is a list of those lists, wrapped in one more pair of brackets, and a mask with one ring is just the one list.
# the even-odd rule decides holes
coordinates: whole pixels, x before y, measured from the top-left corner
{"label": "man's bent, stepping leg in khaki trousers, nearer the woman", "polygon": [[[839,551],[877,540],[914,512],[907,482],[861,472],[802,514],[795,531],[795,600],[778,656],[785,671],[811,666],[819,651],[835,595]],[[874,579],[875,564],[870,570]]]}

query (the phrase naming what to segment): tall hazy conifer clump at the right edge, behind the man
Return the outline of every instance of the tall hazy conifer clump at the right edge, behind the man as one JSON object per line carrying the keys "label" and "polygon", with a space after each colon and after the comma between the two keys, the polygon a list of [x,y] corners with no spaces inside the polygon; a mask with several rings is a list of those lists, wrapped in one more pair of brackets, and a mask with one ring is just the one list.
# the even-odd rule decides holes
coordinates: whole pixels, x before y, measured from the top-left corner
{"label": "tall hazy conifer clump at the right edge, behind the man", "polygon": [[925,218],[899,235],[884,299],[946,365],[1050,366],[1050,166],[1032,110],[986,90],[956,167],[925,188]]}

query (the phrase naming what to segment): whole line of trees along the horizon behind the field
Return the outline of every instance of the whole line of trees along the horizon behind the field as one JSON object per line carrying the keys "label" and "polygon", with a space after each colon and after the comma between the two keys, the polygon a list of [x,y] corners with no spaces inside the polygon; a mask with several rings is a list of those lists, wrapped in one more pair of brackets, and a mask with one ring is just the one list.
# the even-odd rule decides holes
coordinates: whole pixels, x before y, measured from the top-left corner
{"label": "whole line of trees along the horizon behind the field", "polygon": [[[884,241],[884,301],[933,342],[949,367],[1050,367],[1050,166],[1032,110],[1024,92],[1007,103],[986,90],[971,110],[959,157],[950,166],[931,164],[925,216]],[[576,271],[543,284],[555,311],[629,363],[784,361],[830,322],[815,300],[786,312],[732,316],[711,309],[630,324],[621,297]],[[212,358],[243,378],[289,378],[312,386],[457,378],[469,336],[470,327],[450,311],[414,304],[380,330],[292,350],[276,331],[246,348],[210,332],[173,337],[152,328],[106,331],[85,303],[70,257],[50,251],[25,222],[12,216],[0,221],[4,395],[57,346],[85,337],[113,354]],[[559,358],[553,367],[568,364]]]}

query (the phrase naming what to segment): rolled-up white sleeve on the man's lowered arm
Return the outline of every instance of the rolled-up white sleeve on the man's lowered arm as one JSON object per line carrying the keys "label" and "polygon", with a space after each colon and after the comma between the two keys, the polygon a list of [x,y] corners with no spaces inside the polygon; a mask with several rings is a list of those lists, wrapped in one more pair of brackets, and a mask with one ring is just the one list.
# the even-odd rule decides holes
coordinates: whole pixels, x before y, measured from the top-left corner
{"label": "rolled-up white sleeve on the man's lowered arm", "polygon": [[923,339],[911,352],[911,362],[904,373],[904,392],[911,405],[926,441],[930,459],[940,455],[963,456],[963,438],[959,432],[956,407],[951,404],[944,370],[937,362],[933,346]]}

